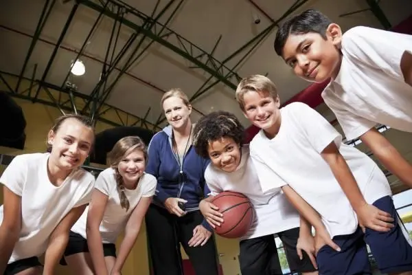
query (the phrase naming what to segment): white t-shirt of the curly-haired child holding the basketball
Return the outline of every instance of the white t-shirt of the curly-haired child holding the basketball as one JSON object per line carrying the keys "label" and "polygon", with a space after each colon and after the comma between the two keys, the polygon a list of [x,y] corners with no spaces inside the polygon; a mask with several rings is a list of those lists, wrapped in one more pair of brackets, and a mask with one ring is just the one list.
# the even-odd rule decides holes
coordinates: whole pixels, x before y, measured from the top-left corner
{"label": "white t-shirt of the curly-haired child holding the basketball", "polygon": [[[206,184],[210,195],[222,191],[240,192],[246,195],[255,208],[255,220],[251,229],[241,239],[275,234],[299,227],[299,214],[289,203],[281,188],[262,191],[259,178],[249,157],[249,145],[242,146],[242,159],[238,168],[227,173],[209,164],[205,170]],[[271,178],[261,179],[271,182]]]}

